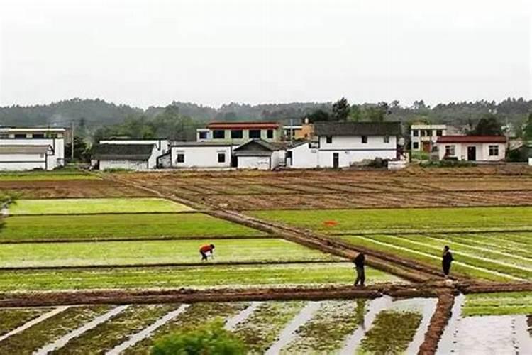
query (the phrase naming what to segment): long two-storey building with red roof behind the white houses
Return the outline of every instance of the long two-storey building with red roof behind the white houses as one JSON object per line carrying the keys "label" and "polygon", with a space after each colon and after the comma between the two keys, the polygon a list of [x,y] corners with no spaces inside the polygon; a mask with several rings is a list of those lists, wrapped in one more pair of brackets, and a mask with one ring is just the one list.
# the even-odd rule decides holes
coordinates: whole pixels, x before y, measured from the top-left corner
{"label": "long two-storey building with red roof behind the white houses", "polygon": [[196,141],[245,143],[251,139],[277,142],[280,138],[277,122],[211,122],[206,129],[198,129]]}

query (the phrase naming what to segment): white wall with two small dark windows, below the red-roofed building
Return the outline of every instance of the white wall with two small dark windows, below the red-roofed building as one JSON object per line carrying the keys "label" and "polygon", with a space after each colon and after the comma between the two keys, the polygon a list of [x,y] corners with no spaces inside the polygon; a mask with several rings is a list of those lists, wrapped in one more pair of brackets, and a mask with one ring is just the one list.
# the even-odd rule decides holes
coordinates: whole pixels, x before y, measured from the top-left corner
{"label": "white wall with two small dark windows, below the red-roofed building", "polygon": [[[173,146],[173,168],[230,168],[231,146]],[[184,153],[184,163],[177,163],[177,154]],[[218,163],[218,154],[224,153],[226,161]]]}

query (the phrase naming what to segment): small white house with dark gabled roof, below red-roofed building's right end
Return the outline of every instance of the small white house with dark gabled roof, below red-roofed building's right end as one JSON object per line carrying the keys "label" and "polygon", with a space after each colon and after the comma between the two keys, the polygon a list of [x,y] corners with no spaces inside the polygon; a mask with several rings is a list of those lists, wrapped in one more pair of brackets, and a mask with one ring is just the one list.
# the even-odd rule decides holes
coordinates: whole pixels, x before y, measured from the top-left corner
{"label": "small white house with dark gabled roof, below red-roofed building's right end", "polygon": [[283,143],[253,139],[233,150],[236,167],[239,169],[274,170],[284,164]]}

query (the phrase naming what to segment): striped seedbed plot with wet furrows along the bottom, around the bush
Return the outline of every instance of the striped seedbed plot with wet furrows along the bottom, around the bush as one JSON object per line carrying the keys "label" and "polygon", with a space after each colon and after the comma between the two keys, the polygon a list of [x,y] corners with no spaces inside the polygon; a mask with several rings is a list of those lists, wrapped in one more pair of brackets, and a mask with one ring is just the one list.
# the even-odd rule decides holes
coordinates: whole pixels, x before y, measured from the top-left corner
{"label": "striped seedbed plot with wet furrows along the bottom, around the bush", "polygon": [[[50,349],[52,354],[102,354],[122,349],[122,354],[150,354],[155,339],[166,334],[236,317],[237,323],[228,329],[243,339],[251,354],[263,354],[281,343],[286,344],[279,349],[282,354],[336,353],[345,348],[347,339],[355,332],[360,332],[355,344],[358,353],[398,354],[413,342],[414,335],[424,333],[421,320],[430,317],[416,307],[401,310],[392,303],[388,309],[377,312],[367,327],[362,327],[370,309],[366,300],[314,302],[314,310],[305,320],[303,312],[313,302],[256,303],[68,307],[4,339],[0,350],[5,354],[32,354],[39,349]],[[174,316],[167,317],[172,313]],[[101,321],[94,323],[99,318]],[[94,326],[87,327],[89,323]],[[150,328],[150,332],[145,331]]]}

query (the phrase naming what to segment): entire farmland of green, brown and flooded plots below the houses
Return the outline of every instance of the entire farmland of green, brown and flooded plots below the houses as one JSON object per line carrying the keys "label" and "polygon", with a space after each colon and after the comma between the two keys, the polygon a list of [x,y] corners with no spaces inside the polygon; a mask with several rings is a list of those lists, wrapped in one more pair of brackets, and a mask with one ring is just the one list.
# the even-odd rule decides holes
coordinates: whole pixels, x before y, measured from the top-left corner
{"label": "entire farmland of green, brown and flooded plots below the houses", "polygon": [[[449,245],[460,282],[526,288],[530,169],[67,170],[1,173],[0,190],[16,197],[0,226],[1,354],[150,354],[156,339],[210,321],[250,354],[418,354],[431,342],[423,354],[532,354],[532,291],[456,288],[442,312],[437,293],[416,293],[418,280],[382,263],[367,266],[367,288],[353,288],[348,257],[398,258],[419,266],[411,271],[428,275],[429,289],[450,290],[438,275]],[[204,244],[216,246],[208,261]],[[304,290],[322,296],[297,296]],[[164,302],[143,300],[159,292]],[[94,298],[72,301],[78,293]],[[127,298],[97,300],[110,293]],[[209,300],[216,293],[231,302]]]}

